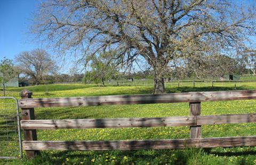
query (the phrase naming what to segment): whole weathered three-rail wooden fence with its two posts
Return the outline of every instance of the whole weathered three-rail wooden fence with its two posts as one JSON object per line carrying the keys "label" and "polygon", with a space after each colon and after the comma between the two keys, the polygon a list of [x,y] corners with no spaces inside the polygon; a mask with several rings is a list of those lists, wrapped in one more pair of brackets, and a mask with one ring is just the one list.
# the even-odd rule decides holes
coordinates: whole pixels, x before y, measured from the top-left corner
{"label": "whole weathered three-rail wooden fence with its two posts", "polygon": [[[21,128],[23,150],[33,158],[39,150],[139,150],[184,149],[186,147],[255,146],[256,136],[201,138],[202,125],[256,122],[256,113],[200,116],[201,102],[248,100],[256,98],[256,90],[225,92],[191,92],[158,95],[94,96],[69,98],[31,98],[29,90],[21,92]],[[91,106],[114,104],[152,104],[188,102],[190,116],[165,118],[68,119],[35,120],[34,108],[53,106]],[[147,141],[37,141],[36,129],[124,128],[124,127],[190,126],[190,138]]]}

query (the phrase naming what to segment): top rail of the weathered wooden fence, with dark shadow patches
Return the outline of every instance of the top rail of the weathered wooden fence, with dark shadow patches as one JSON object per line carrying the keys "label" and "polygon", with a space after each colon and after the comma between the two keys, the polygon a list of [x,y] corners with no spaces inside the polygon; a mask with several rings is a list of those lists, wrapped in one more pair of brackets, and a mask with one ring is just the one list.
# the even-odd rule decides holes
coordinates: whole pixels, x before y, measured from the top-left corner
{"label": "top rail of the weathered wooden fence, with dark shadow patches", "polygon": [[68,98],[27,98],[20,99],[20,108],[38,108],[51,106],[91,106],[114,104],[152,104],[175,102],[204,102],[221,100],[255,99],[256,90],[232,90],[223,92],[191,92],[157,95],[122,95]]}

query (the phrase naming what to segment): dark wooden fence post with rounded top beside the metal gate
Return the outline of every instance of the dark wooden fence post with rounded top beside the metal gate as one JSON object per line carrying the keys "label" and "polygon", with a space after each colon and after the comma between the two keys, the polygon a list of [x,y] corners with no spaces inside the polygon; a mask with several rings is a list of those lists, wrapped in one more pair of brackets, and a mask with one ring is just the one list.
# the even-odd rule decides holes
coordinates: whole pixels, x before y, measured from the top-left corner
{"label": "dark wooden fence post with rounded top beside the metal gate", "polygon": [[[21,98],[32,98],[32,92],[28,89],[24,89],[20,92]],[[35,120],[34,108],[22,108],[21,109],[22,120]],[[36,130],[23,130],[25,141],[37,141]],[[34,158],[38,151],[26,151],[27,158]]]}

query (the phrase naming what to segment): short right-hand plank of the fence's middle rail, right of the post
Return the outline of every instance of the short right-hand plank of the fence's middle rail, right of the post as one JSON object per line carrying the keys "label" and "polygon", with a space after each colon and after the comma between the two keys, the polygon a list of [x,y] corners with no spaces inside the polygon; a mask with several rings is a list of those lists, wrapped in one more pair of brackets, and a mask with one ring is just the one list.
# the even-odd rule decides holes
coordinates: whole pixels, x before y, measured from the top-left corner
{"label": "short right-hand plank of the fence's middle rail, right of the post", "polygon": [[197,125],[256,122],[256,113],[197,116]]}

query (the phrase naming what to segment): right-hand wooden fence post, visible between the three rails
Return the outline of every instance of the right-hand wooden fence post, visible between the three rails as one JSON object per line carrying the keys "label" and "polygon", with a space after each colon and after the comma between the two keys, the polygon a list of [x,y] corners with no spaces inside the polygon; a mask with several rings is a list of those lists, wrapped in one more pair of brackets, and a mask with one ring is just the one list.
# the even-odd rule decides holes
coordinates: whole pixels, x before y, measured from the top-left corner
{"label": "right-hand wooden fence post, visible between the three rails", "polygon": [[[189,103],[190,116],[201,115],[201,102]],[[201,138],[201,126],[190,127],[190,138]]]}

